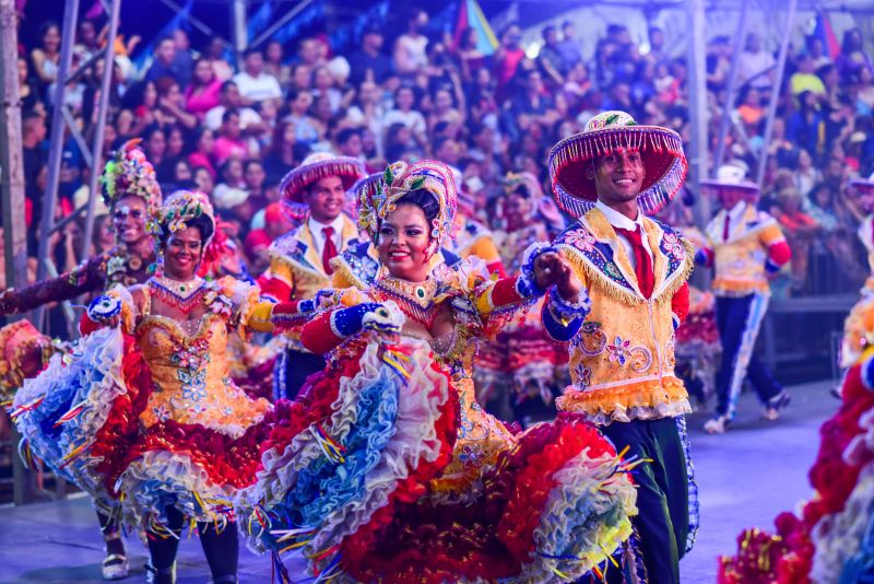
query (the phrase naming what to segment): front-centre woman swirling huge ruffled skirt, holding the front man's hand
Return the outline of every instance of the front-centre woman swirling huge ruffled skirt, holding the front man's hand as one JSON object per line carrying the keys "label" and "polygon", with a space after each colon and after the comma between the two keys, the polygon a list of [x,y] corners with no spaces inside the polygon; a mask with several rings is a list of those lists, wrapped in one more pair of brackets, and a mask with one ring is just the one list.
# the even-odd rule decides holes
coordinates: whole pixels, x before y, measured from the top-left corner
{"label": "front-centre woman swirling huge ruffled skirt, holding the front man's hand", "polygon": [[476,402],[475,340],[574,280],[544,245],[519,277],[489,278],[481,262],[436,281],[429,259],[454,202],[449,168],[432,161],[390,166],[362,201],[380,273],[366,290],[333,293],[305,325],[304,344],[329,365],[237,500],[241,526],[280,571],[280,553],[302,549],[321,580],[574,580],[630,535],[627,464],[592,425],[562,414],[520,433]]}

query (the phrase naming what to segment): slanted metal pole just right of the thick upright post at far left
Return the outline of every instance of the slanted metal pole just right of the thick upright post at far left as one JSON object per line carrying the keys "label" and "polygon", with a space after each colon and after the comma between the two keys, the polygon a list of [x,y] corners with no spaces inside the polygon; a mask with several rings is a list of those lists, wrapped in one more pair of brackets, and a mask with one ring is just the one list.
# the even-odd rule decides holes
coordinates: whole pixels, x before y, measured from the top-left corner
{"label": "slanted metal pole just right of the thick upright post at far left", "polygon": [[[75,25],[79,20],[79,0],[66,0],[63,3],[63,27],[61,30],[61,60],[58,67],[58,77],[55,82],[55,101],[51,110],[51,135],[49,136],[48,152],[48,184],[46,196],[43,198],[43,218],[39,225],[38,265],[36,268],[37,281],[46,278],[46,260],[48,259],[48,243],[55,231],[55,203],[58,200],[58,185],[60,183],[61,154],[63,153],[63,102],[66,97],[67,78],[70,74],[70,63],[73,59],[73,40]],[[36,309],[34,324],[43,326],[45,306]]]}

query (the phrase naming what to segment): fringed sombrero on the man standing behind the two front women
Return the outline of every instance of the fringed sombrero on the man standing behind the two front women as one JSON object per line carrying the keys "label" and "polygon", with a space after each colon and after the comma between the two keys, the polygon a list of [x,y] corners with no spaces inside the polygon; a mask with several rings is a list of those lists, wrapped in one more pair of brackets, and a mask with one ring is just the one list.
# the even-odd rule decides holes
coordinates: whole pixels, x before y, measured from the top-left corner
{"label": "fringed sombrero on the man standing behind the two front women", "polygon": [[328,176],[339,176],[343,180],[343,188],[349,190],[365,174],[364,164],[358,159],[338,156],[331,152],[315,152],[283,177],[280,183],[280,194],[288,206],[292,217],[302,219],[308,211],[304,191],[312,183]]}

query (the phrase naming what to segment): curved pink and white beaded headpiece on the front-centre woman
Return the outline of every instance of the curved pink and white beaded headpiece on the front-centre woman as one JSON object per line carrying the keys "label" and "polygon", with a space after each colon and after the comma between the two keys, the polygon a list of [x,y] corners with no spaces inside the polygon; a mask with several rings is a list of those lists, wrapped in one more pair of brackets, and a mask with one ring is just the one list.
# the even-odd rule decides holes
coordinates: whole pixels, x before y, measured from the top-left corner
{"label": "curved pink and white beaded headpiece on the front-centre woman", "polygon": [[452,171],[442,162],[424,160],[414,164],[390,164],[376,189],[362,189],[358,226],[376,241],[380,221],[394,211],[398,199],[414,190],[426,190],[437,200],[439,211],[432,222],[430,235],[438,246],[442,246],[447,237],[454,237],[458,205]]}

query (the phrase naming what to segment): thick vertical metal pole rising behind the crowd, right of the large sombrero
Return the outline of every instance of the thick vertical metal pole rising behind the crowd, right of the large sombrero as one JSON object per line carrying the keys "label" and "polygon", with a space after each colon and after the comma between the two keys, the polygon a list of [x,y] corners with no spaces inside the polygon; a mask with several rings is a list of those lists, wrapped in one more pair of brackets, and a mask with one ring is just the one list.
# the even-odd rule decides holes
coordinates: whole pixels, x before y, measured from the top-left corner
{"label": "thick vertical metal pole rising behind the crowd, right of the large sombrero", "polygon": [[[700,180],[707,177],[707,67],[705,61],[705,0],[688,0],[686,13],[688,46],[686,58],[689,68],[689,121],[692,125],[692,148],[689,149],[689,187],[698,192]],[[709,201],[698,197],[695,206],[695,220],[704,225],[710,218]]]}

